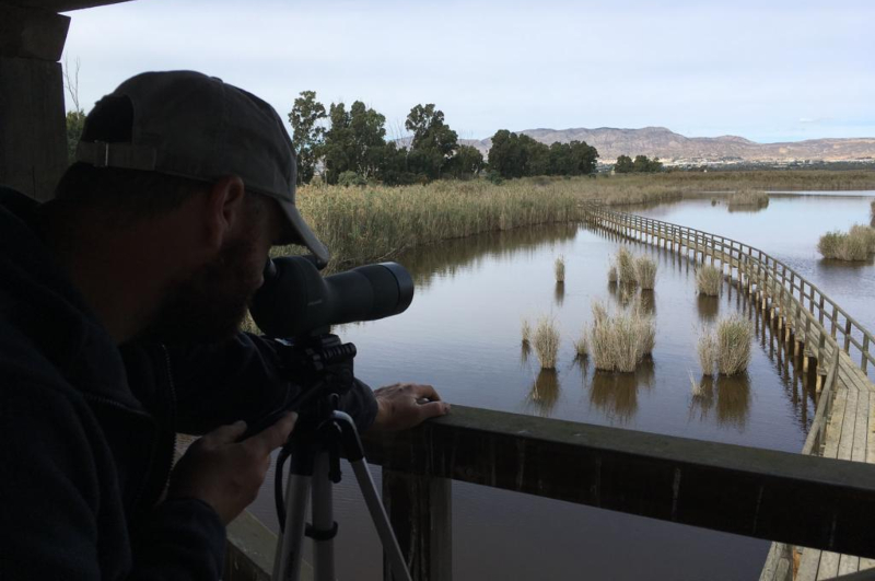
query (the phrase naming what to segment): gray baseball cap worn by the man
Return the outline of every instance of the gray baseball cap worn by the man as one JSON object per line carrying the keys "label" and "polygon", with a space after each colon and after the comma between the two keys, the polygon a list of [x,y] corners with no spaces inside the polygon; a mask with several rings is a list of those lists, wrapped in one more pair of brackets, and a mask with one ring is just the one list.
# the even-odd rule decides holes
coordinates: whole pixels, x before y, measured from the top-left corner
{"label": "gray baseball cap worn by the man", "polygon": [[[103,137],[95,120],[104,105],[119,98],[131,106],[129,141]],[[248,191],[279,202],[292,242],[306,246],[322,265],[330,257],[294,205],[295,154],[279,115],[215,77],[166,71],[128,79],[89,114],[77,161],[203,182],[237,175]]]}

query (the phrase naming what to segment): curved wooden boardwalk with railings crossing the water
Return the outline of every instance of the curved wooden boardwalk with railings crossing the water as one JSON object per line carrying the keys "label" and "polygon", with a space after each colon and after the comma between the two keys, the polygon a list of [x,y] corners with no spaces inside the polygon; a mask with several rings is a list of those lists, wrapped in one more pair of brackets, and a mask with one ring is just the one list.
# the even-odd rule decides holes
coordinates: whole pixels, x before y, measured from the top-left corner
{"label": "curved wooden boardwalk with railings crossing the water", "polygon": [[[587,205],[587,221],[719,265],[769,317],[794,364],[816,375],[817,411],[802,453],[875,464],[875,385],[867,376],[875,338],[817,287],[758,248],[716,234],[598,204]],[[815,581],[870,569],[875,559],[774,543],[760,581]]]}

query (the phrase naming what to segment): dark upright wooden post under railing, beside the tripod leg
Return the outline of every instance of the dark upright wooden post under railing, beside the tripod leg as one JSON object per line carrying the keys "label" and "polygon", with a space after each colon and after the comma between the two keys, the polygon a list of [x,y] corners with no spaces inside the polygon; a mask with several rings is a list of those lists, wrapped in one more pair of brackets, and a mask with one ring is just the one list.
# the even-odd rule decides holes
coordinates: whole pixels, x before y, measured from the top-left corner
{"label": "dark upright wooden post under railing, beside the tripod leg", "polygon": [[[413,581],[450,581],[452,481],[383,468],[383,503]],[[394,580],[385,559],[383,579]]]}

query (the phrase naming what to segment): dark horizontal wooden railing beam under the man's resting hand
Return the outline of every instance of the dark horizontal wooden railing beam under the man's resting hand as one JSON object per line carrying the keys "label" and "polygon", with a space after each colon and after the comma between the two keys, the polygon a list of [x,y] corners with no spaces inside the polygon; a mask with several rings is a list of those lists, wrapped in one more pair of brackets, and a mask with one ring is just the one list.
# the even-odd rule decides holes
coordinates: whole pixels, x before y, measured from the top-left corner
{"label": "dark horizontal wooden railing beam under the man's resting hand", "polygon": [[726,533],[875,556],[875,466],[454,406],[369,462]]}

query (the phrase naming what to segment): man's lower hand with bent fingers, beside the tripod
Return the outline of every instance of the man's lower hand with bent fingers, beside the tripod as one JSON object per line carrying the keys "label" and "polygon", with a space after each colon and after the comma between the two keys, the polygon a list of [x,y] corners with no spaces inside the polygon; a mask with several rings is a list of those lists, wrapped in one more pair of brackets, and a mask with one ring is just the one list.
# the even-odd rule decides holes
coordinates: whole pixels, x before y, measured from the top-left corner
{"label": "man's lower hand with bent fingers, beside the tripod", "polygon": [[167,498],[198,498],[211,506],[222,522],[233,521],[258,495],[270,466],[270,453],[285,443],[298,414],[241,442],[246,422],[222,426],[191,444],[171,475]]}

